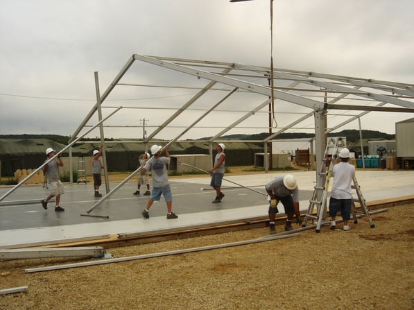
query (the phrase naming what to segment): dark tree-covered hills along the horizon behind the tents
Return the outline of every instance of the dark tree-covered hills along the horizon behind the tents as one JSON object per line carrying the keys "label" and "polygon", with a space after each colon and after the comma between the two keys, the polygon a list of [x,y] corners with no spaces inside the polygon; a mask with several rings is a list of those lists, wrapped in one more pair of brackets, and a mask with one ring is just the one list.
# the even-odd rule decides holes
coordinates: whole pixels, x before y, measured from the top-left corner
{"label": "dark tree-covered hills along the horizon behind the tents", "polygon": [[[255,135],[227,135],[221,137],[221,139],[234,139],[234,140],[263,140],[268,137],[268,132],[261,132]],[[301,139],[301,138],[311,138],[314,134],[305,133],[305,132],[293,132],[293,133],[282,133],[278,135],[275,140],[277,139]],[[358,141],[359,140],[359,130],[342,130],[340,132],[331,133],[328,137],[346,137],[347,141]],[[384,139],[384,140],[394,140],[395,135],[390,135],[385,132],[379,132],[375,130],[362,130],[362,137],[363,139]],[[208,140],[211,137],[204,137],[198,140],[204,141]],[[62,136],[62,135],[30,135],[30,134],[23,134],[23,135],[0,135],[0,139],[49,139],[56,141],[60,144],[67,145],[70,139],[70,136]],[[88,139],[84,139],[88,140]],[[92,139],[96,140],[96,139]],[[116,139],[105,139],[108,141],[114,141]]]}

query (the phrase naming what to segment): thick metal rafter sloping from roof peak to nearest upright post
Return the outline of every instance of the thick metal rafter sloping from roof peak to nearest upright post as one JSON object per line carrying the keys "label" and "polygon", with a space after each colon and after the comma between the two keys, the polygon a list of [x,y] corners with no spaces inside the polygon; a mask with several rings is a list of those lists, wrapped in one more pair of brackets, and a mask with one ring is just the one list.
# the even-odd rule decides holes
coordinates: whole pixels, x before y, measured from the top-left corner
{"label": "thick metal rafter sloping from roof peak to nearest upright post", "polygon": [[[159,60],[155,57],[137,55],[137,54],[134,54],[133,57],[136,60],[141,60],[143,62],[155,64],[159,67],[164,67],[167,69],[179,71],[184,74],[189,74],[191,76],[197,76],[198,78],[205,78],[207,80],[215,80],[218,83],[230,85],[233,87],[238,87],[239,89],[244,89],[244,90],[247,90],[248,92],[262,94],[268,97],[272,96],[272,91],[270,87],[261,86],[255,83],[245,82],[243,80],[236,80],[235,78],[221,76],[220,74],[212,74],[211,72],[193,69],[191,67],[183,66],[180,64],[174,64],[173,62],[169,62],[166,60]],[[281,99],[283,101],[288,101],[291,103],[295,103],[297,105],[302,105],[304,107],[310,107],[311,109],[314,109],[314,110],[324,109],[324,104],[319,101],[315,101],[315,100],[305,98],[302,96],[297,96],[294,94],[288,94],[287,92],[282,92],[280,90],[274,90],[274,94],[275,94],[275,98]]]}

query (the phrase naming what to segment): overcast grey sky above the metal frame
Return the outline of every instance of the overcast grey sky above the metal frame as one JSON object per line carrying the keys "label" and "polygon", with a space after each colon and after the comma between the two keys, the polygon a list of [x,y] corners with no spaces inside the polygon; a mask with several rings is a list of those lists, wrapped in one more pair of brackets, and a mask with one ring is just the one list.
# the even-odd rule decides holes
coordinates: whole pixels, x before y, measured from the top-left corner
{"label": "overcast grey sky above the metal frame", "polygon": [[[0,6],[3,135],[72,135],[96,102],[94,72],[102,93],[134,53],[270,61],[268,0],[0,0]],[[275,0],[275,67],[413,83],[412,12],[412,0]],[[396,121],[414,117],[374,115],[363,119],[362,129],[393,134]],[[156,118],[148,112],[135,123],[155,124]]]}

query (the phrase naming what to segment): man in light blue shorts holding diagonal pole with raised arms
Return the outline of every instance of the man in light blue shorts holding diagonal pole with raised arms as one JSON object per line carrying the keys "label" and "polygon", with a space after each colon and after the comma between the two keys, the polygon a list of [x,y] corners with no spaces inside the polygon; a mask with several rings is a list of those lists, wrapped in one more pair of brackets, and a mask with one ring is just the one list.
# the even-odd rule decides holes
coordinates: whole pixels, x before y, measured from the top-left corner
{"label": "man in light blue shorts holding diagonal pole with raised arms", "polygon": [[150,150],[153,157],[146,162],[142,170],[144,172],[151,170],[151,175],[153,176],[153,191],[151,191],[150,200],[148,200],[146,208],[142,212],[142,216],[144,216],[144,218],[150,218],[149,211],[151,205],[153,205],[155,200],[159,201],[161,195],[163,195],[166,201],[166,208],[168,212],[166,214],[166,218],[178,218],[178,215],[172,212],[173,195],[171,194],[171,187],[166,170],[166,165],[169,164],[171,160],[169,148],[168,146],[164,148],[165,156],[161,156],[162,146],[157,146],[155,144],[151,146]]}

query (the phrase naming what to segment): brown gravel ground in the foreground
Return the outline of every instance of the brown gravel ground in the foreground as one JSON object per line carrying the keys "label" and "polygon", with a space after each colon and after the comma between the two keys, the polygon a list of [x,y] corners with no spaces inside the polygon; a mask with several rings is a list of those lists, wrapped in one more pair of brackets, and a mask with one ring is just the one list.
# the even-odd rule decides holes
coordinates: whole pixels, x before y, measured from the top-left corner
{"label": "brown gravel ground in the foreground", "polygon": [[[246,246],[43,273],[85,259],[0,261],[0,309],[414,309],[413,207]],[[337,228],[342,227],[341,224]],[[282,230],[282,226],[277,229]],[[116,257],[255,239],[268,228],[111,248]]]}

